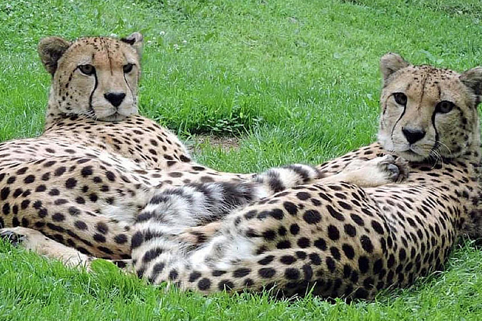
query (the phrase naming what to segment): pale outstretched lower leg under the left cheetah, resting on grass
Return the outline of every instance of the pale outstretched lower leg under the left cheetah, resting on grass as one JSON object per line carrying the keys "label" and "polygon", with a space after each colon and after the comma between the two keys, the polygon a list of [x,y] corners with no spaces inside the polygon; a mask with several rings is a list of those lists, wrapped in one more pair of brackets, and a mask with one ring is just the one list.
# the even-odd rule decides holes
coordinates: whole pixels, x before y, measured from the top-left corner
{"label": "pale outstretched lower leg under the left cheetah, resting on grass", "polygon": [[[92,261],[98,258],[88,256],[78,250],[65,246],[37,230],[16,227],[0,229],[0,239],[11,243],[13,246],[21,246],[49,259],[59,260],[68,267],[85,267],[90,270]],[[114,263],[125,271],[133,271],[131,260],[106,260]]]}

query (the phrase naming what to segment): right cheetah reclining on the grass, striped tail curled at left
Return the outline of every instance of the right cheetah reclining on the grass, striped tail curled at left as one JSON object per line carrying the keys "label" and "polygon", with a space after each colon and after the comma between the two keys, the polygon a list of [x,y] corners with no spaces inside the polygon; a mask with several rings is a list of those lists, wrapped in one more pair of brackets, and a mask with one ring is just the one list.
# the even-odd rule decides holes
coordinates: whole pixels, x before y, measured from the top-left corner
{"label": "right cheetah reclining on the grass, striped tail curled at left", "polygon": [[[197,248],[179,236],[210,214],[202,190],[155,191],[131,231],[136,272],[204,293],[276,286],[288,295],[312,289],[372,298],[441,268],[463,226],[475,221],[468,213],[479,192],[482,68],[458,74],[387,54],[381,70],[383,148],[365,147],[322,167],[388,150],[411,161],[407,180],[371,188],[320,180],[287,189],[228,214]],[[88,260],[60,250],[46,254]]]}

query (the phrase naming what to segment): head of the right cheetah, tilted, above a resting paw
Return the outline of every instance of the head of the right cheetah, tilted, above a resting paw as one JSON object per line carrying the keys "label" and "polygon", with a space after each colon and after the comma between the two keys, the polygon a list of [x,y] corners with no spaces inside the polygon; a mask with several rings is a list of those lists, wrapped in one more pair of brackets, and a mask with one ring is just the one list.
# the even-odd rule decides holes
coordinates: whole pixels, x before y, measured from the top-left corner
{"label": "head of the right cheetah, tilted, above a resting paw", "polygon": [[480,141],[482,67],[461,74],[414,66],[397,54],[380,60],[383,89],[378,139],[403,158],[455,158]]}

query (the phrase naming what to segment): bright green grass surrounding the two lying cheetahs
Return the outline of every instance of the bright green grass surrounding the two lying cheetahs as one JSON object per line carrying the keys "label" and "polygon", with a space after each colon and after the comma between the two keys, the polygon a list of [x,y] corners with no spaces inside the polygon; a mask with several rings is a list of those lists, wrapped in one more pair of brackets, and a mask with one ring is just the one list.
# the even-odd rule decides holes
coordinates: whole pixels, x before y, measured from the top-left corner
{"label": "bright green grass surrounding the two lying cheetahs", "polygon": [[[479,0],[0,1],[0,141],[42,130],[41,37],[141,31],[142,114],[191,145],[241,138],[199,146],[198,161],[233,172],[320,163],[374,141],[382,54],[468,69],[481,64],[481,19]],[[0,320],[482,320],[481,262],[466,242],[445,272],[348,305],[166,293],[0,245]]]}

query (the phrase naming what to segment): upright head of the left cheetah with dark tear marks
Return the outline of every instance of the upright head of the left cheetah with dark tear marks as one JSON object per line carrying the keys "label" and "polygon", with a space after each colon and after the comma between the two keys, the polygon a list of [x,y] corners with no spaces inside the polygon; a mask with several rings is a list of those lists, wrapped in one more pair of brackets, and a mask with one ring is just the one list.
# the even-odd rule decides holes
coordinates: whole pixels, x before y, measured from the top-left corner
{"label": "upright head of the left cheetah with dark tear marks", "polygon": [[38,53],[52,75],[47,122],[83,115],[116,121],[137,113],[142,35],[44,38]]}

